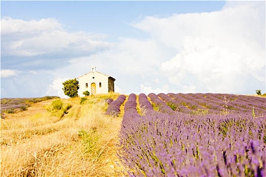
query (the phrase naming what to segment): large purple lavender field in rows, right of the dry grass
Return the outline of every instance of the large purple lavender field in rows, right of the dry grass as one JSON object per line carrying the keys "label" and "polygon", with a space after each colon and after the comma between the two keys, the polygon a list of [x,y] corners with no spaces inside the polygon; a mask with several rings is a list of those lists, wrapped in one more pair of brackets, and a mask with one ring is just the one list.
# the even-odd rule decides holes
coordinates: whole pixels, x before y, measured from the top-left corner
{"label": "large purple lavender field in rows, right of the dry grass", "polygon": [[127,175],[266,176],[266,98],[151,93],[112,102],[107,114],[124,108],[118,154]]}

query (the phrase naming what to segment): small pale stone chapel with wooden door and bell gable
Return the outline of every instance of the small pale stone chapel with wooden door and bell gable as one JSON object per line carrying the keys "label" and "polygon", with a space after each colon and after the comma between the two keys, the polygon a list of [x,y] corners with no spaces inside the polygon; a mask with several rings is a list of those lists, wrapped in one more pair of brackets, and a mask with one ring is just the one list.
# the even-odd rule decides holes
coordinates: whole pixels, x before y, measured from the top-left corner
{"label": "small pale stone chapel with wooden door and bell gable", "polygon": [[91,71],[78,77],[80,89],[78,94],[84,97],[82,93],[89,91],[90,94],[107,94],[108,92],[115,92],[115,78],[97,72],[96,67],[91,67]]}

